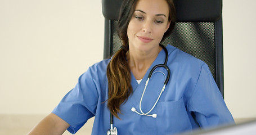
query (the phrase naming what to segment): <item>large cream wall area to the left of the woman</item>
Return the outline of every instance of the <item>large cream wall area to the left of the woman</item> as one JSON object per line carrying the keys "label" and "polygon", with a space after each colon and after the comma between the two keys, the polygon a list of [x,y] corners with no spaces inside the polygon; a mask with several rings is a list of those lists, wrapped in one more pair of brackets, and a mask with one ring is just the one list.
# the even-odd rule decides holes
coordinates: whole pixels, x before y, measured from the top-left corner
{"label": "large cream wall area to the left of the woman", "polygon": [[0,113],[50,113],[103,44],[100,0],[0,0]]}

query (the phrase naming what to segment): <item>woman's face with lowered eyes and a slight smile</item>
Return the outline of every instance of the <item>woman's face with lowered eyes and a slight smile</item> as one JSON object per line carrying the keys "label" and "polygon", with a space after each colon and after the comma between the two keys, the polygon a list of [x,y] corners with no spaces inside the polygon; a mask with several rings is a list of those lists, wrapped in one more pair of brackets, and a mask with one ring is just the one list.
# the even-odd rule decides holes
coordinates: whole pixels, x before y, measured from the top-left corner
{"label": "woman's face with lowered eyes and a slight smile", "polygon": [[139,0],[127,28],[129,48],[143,52],[159,47],[169,28],[166,0]]}

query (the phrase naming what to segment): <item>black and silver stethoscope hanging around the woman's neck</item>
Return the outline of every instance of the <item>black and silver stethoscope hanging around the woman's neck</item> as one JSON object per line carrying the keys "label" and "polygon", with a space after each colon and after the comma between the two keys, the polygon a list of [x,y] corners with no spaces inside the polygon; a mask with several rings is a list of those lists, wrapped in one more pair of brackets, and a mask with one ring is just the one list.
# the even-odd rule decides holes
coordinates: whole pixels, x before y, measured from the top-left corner
{"label": "black and silver stethoscope hanging around the woman's neck", "polygon": [[[152,116],[153,118],[156,118],[157,114],[149,114],[149,113],[155,108],[155,106],[156,106],[156,104],[158,103],[158,100],[159,100],[159,98],[161,97],[161,94],[164,92],[165,86],[167,85],[167,83],[168,83],[168,81],[169,81],[169,78],[170,78],[170,69],[169,69],[168,66],[167,66],[168,51],[167,51],[167,49],[166,49],[163,45],[160,44],[160,46],[163,48],[163,50],[164,50],[164,52],[165,52],[165,61],[164,61],[164,64],[155,65],[155,66],[150,70],[150,73],[149,73],[149,76],[147,77],[147,81],[146,81],[146,84],[145,84],[145,87],[144,87],[144,90],[143,90],[143,93],[142,93],[142,96],[141,96],[141,100],[140,100],[140,111],[141,111],[141,113],[139,113],[138,111],[136,111],[135,107],[132,107],[132,109],[131,109],[133,112],[135,112],[135,113],[137,113],[137,114],[139,114],[139,115]],[[156,68],[160,68],[160,67],[163,67],[163,68],[165,68],[165,69],[167,70],[167,72],[168,72],[167,77],[166,77],[165,74],[164,74],[163,72],[161,72],[161,71],[155,71],[155,72],[154,72],[154,70],[155,70]],[[146,88],[147,88],[147,84],[149,83],[149,80],[150,80],[152,74],[157,73],[157,72],[164,74],[164,76],[165,76],[164,86],[163,86],[163,88],[161,89],[161,92],[160,92],[160,94],[159,94],[159,96],[158,96],[158,99],[155,101],[154,106],[153,106],[147,113],[144,113],[144,112],[142,111],[142,109],[141,109],[142,98],[143,98],[143,96],[144,96],[144,93],[145,93]],[[118,131],[117,131],[116,127],[113,127],[113,114],[110,113],[110,129],[107,131],[107,135],[117,135],[117,134],[118,134]]]}

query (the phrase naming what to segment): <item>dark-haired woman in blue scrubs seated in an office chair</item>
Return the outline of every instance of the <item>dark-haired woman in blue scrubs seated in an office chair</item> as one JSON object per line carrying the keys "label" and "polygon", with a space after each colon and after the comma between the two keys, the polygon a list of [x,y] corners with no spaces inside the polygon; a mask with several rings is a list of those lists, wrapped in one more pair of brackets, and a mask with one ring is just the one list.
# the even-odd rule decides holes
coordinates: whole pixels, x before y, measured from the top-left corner
{"label": "dark-haired woman in blue scrubs seated in an office chair", "polygon": [[118,21],[122,48],[81,75],[29,134],[62,134],[67,128],[75,133],[92,116],[92,134],[106,134],[110,113],[122,135],[174,134],[233,123],[208,66],[170,45],[169,82],[164,89],[168,73],[157,68],[145,89],[150,70],[165,62],[160,42],[173,30],[175,19],[172,0],[125,0]]}

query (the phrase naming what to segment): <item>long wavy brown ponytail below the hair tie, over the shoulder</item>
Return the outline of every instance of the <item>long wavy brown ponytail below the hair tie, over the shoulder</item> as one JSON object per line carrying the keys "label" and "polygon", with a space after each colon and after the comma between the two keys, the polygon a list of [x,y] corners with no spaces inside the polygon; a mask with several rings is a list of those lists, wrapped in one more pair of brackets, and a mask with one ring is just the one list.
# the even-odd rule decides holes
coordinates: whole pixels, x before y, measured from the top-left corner
{"label": "long wavy brown ponytail below the hair tie, over the shoulder", "polygon": [[127,51],[127,47],[123,46],[107,65],[109,84],[107,107],[116,118],[119,118],[118,113],[121,113],[120,106],[127,101],[132,93],[131,71],[126,60]]}

